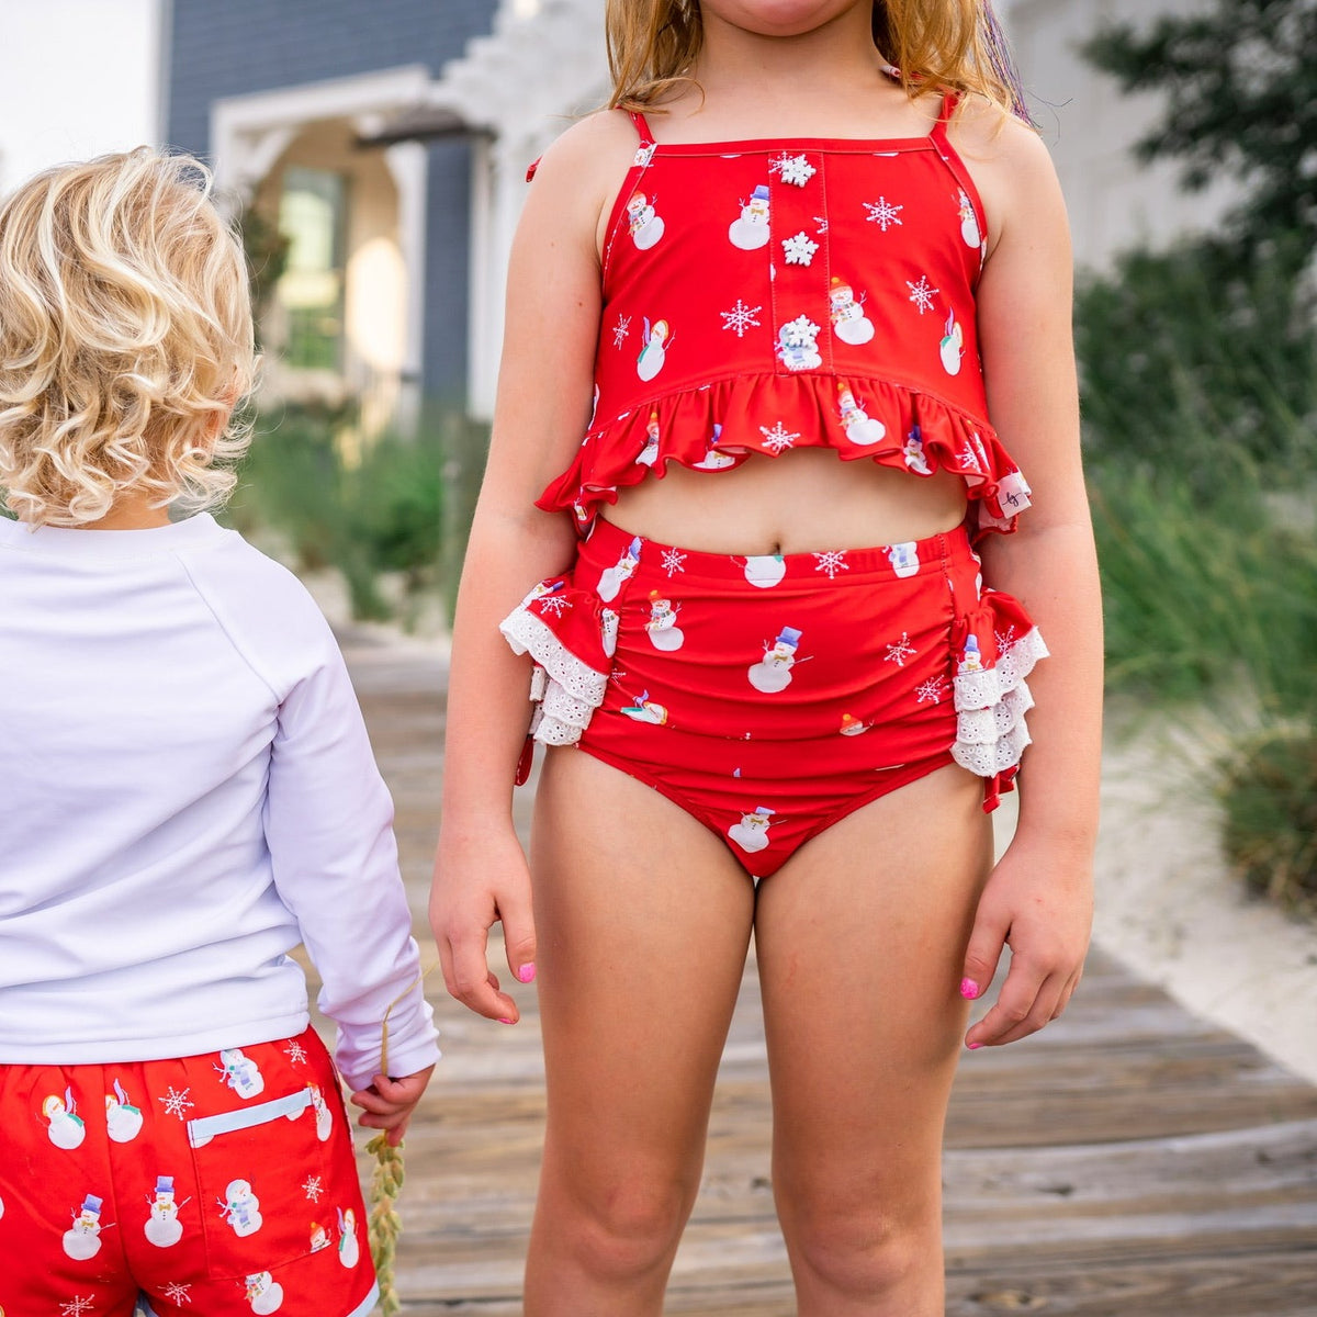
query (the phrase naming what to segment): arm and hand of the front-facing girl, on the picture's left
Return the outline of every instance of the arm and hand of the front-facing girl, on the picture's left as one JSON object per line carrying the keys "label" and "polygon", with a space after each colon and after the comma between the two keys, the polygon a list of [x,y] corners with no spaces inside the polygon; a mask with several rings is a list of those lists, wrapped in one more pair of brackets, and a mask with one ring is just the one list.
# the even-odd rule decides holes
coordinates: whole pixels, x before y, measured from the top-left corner
{"label": "arm and hand of the front-facing girl, on the picture's left", "polygon": [[620,115],[577,124],[545,154],[508,267],[507,323],[489,465],[453,628],[444,802],[431,926],[448,990],[512,1023],[516,1004],[486,960],[502,921],[508,967],[535,973],[531,880],[512,830],[512,777],[531,716],[529,661],[498,624],[570,561],[574,531],[533,503],[589,424],[601,290],[597,234],[635,136]]}

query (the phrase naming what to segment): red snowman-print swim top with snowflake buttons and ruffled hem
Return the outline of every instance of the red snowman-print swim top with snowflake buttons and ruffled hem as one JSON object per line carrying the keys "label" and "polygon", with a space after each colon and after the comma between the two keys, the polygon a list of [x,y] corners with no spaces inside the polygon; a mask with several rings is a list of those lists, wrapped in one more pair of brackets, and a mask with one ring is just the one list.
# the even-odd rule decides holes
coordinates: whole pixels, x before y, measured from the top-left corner
{"label": "red snowman-print swim top with snowflake buttons and ruffled hem", "polygon": [[587,533],[668,462],[834,448],[961,475],[977,532],[1029,486],[988,423],[975,323],[982,203],[947,140],[640,148],[608,220],[595,407],[536,500]]}

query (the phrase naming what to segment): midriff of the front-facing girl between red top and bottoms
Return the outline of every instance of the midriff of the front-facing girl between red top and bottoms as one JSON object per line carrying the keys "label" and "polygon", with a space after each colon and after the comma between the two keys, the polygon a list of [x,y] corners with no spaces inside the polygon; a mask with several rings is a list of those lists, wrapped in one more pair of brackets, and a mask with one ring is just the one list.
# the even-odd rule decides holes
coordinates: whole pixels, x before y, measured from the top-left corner
{"label": "midriff of the front-facing girl between red top and bottoms", "polygon": [[726,471],[673,464],[620,490],[605,516],[660,544],[706,553],[811,553],[922,540],[965,515],[964,483],[913,475],[831,449],[752,457]]}

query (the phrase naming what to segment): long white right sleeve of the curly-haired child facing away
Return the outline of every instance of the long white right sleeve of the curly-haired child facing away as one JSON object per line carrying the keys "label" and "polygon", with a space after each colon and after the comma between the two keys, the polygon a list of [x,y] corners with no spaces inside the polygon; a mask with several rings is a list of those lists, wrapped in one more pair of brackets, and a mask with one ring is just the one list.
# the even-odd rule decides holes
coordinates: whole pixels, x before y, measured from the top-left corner
{"label": "long white right sleeve of the curly-haired child facing away", "polygon": [[338,1026],[338,1068],[352,1089],[365,1089],[381,1069],[386,1013],[392,1075],[425,1071],[439,1048],[398,872],[392,801],[346,665],[300,587],[282,605],[279,620],[307,661],[279,706],[266,844],[275,888],[324,984],[320,1009]]}

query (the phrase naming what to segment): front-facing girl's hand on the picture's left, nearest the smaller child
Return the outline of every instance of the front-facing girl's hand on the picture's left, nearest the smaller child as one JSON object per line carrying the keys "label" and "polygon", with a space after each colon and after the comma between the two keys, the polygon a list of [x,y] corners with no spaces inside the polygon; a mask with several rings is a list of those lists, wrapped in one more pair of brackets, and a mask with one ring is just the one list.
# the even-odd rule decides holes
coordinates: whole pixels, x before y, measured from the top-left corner
{"label": "front-facing girl's hand on the picture's left, nearest the smaller child", "polygon": [[440,835],[429,927],[449,993],[478,1015],[515,1025],[522,1013],[489,967],[489,931],[502,922],[507,963],[518,982],[535,979],[531,871],[510,830]]}

